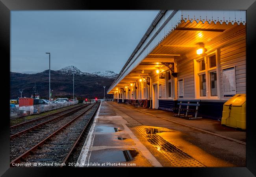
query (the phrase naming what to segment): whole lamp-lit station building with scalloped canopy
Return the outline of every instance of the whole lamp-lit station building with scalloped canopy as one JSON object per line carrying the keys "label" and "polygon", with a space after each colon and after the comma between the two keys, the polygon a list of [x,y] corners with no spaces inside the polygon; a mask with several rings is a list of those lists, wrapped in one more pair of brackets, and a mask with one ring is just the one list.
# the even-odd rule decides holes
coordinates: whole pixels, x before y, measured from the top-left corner
{"label": "whole lamp-lit station building with scalloped canopy", "polygon": [[223,104],[246,94],[246,11],[161,10],[108,94],[169,111],[199,100],[198,115],[221,119]]}

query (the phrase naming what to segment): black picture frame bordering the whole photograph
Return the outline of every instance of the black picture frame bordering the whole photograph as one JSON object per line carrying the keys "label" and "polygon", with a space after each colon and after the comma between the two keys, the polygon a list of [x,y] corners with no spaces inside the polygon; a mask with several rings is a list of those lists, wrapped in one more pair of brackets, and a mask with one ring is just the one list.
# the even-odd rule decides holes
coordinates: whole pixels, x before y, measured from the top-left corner
{"label": "black picture frame bordering the whole photograph", "polygon": [[[123,2],[122,2],[123,3]],[[174,174],[178,175],[188,174],[191,176],[208,176],[208,177],[220,177],[220,176],[232,176],[232,177],[249,177],[256,175],[256,134],[255,134],[255,116],[253,116],[252,108],[255,104],[255,100],[252,94],[253,87],[250,80],[254,79],[254,73],[252,73],[253,62],[255,60],[254,48],[255,48],[255,29],[256,29],[256,2],[255,0],[163,0],[154,1],[154,0],[130,0],[121,4],[121,2],[116,1],[83,1],[83,0],[1,0],[0,2],[0,44],[1,44],[1,58],[2,58],[2,84],[4,85],[4,90],[2,94],[4,95],[4,106],[2,107],[5,115],[2,116],[1,122],[1,160],[0,160],[0,175],[2,176],[53,176],[54,172],[57,172],[58,175],[63,174],[67,176],[68,174],[74,175],[74,171],[81,171],[85,174],[85,171],[91,170],[95,174],[97,172],[102,172],[102,170],[91,169],[91,168],[9,168],[9,113],[6,111],[7,103],[9,101],[8,92],[9,89],[9,80],[10,78],[7,75],[8,71],[8,62],[7,66],[4,64],[4,61],[10,59],[10,11],[12,10],[92,10],[92,9],[121,9],[121,10],[141,10],[141,9],[195,9],[195,10],[247,10],[247,166],[246,167],[237,167],[237,168],[143,168],[144,172],[152,174],[154,171],[157,171],[159,175],[165,174]],[[5,76],[7,75],[7,76]],[[117,170],[113,168],[105,168],[110,172],[110,170]],[[119,168],[119,170],[141,170],[139,168]],[[159,171],[164,171],[159,172]],[[121,172],[121,171],[120,171]],[[116,175],[122,175],[118,174]],[[122,172],[123,173],[123,172]],[[137,173],[137,172],[136,172]],[[65,175],[64,175],[65,174]],[[107,173],[106,173],[107,174]],[[110,175],[113,173],[110,173]],[[128,173],[134,175],[134,173]],[[90,174],[92,175],[92,173]],[[144,174],[145,175],[145,174]]]}

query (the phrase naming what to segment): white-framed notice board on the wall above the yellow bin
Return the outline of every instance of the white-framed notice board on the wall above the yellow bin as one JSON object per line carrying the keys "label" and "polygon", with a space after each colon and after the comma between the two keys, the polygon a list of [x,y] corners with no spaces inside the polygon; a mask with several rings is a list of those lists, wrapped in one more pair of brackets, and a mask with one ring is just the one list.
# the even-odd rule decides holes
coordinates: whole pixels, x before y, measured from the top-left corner
{"label": "white-framed notice board on the wall above the yellow bin", "polygon": [[223,76],[223,95],[232,97],[236,94],[236,70],[235,67],[222,70]]}

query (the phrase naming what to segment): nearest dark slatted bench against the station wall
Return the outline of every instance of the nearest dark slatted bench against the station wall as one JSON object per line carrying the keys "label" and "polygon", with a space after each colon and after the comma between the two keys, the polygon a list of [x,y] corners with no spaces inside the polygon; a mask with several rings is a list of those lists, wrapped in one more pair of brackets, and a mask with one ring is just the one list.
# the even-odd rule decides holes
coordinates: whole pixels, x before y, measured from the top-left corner
{"label": "nearest dark slatted bench against the station wall", "polygon": [[[201,119],[202,117],[197,117],[198,107],[200,106],[200,100],[178,100],[180,105],[178,108],[173,108],[173,110],[178,110],[178,114],[173,114],[173,116],[186,118],[186,119]],[[191,103],[192,102],[192,103]],[[185,106],[186,108],[182,108]],[[190,107],[189,107],[190,106]],[[195,107],[191,109],[191,106]],[[180,112],[186,112],[186,114],[180,114]],[[195,112],[195,117],[188,115],[188,112]]]}

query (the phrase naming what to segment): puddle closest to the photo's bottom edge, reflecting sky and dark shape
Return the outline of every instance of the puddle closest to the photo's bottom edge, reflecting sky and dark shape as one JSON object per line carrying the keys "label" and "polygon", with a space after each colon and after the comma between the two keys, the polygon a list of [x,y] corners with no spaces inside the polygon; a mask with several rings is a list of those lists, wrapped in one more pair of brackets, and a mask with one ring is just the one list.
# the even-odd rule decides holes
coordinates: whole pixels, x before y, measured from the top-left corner
{"label": "puddle closest to the photo's bottom edge, reflecting sky and dark shape", "polygon": [[[96,153],[96,154],[94,154]],[[129,162],[134,160],[134,158],[139,154],[136,150],[126,150],[126,151],[92,151],[91,157],[96,157],[91,159],[91,162],[94,160],[97,162]]]}

